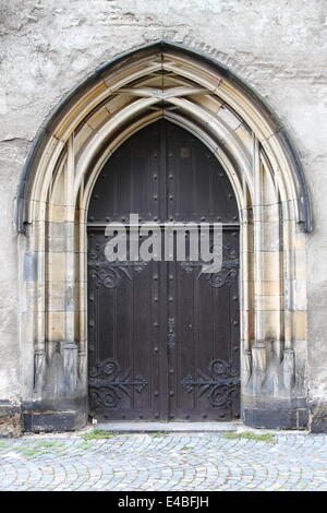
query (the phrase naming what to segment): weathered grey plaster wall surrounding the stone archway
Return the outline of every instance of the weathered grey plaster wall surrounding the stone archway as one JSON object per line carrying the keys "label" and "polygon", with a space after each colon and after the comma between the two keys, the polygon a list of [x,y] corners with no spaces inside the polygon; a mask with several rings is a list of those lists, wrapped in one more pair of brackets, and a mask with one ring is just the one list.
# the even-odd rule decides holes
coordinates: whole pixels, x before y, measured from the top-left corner
{"label": "weathered grey plaster wall surrounding the stone archway", "polygon": [[165,38],[203,50],[238,73],[268,102],[298,146],[314,210],[308,389],[314,403],[324,397],[327,403],[326,1],[0,0],[0,399],[24,395],[13,216],[28,146],[51,109],[95,68]]}

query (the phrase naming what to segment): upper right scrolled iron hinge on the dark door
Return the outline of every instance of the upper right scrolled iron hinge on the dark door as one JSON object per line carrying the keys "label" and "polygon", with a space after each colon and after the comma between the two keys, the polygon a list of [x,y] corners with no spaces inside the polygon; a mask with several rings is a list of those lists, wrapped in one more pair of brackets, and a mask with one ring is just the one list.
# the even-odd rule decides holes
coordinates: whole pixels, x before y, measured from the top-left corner
{"label": "upper right scrolled iron hinge on the dark door", "polygon": [[[193,269],[199,267],[203,264],[205,264],[205,262],[186,260],[181,262],[180,265],[185,271],[185,273],[192,273]],[[231,243],[223,244],[221,270],[218,273],[203,273],[203,271],[199,270],[196,279],[198,279],[201,276],[205,276],[206,279],[209,281],[211,287],[220,288],[225,285],[230,285],[234,281],[234,278],[238,276],[239,266],[240,259],[238,256],[237,250],[232,247]]]}

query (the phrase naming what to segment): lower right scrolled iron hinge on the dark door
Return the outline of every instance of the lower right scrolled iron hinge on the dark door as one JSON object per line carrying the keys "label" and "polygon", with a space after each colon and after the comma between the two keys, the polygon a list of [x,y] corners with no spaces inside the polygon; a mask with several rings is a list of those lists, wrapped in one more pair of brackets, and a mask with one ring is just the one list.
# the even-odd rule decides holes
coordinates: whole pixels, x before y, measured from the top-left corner
{"label": "lower right scrolled iron hinge on the dark door", "polygon": [[181,384],[189,393],[197,387],[199,397],[209,392],[208,399],[214,408],[230,404],[239,393],[239,371],[225,360],[214,360],[208,368],[208,372],[197,370],[197,379],[193,379],[190,374],[186,375]]}

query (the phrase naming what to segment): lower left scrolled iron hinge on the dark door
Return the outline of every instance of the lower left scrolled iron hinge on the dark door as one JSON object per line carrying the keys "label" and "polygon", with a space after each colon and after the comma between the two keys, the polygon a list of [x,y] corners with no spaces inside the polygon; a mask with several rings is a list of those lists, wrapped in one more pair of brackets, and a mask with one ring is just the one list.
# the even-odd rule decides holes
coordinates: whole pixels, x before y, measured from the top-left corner
{"label": "lower left scrolled iron hinge on the dark door", "polygon": [[132,390],[141,394],[148,381],[140,374],[132,379],[130,374],[131,369],[122,371],[113,359],[94,366],[88,372],[89,397],[94,407],[116,408],[122,399],[120,392],[130,398]]}

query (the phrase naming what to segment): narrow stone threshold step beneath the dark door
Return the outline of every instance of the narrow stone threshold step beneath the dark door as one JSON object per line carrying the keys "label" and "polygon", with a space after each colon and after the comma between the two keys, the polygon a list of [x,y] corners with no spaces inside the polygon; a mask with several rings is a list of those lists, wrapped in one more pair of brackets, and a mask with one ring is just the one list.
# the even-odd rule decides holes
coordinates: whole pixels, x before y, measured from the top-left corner
{"label": "narrow stone threshold step beneath the dark door", "polygon": [[237,431],[237,422],[98,422],[94,428],[116,432],[226,432]]}

